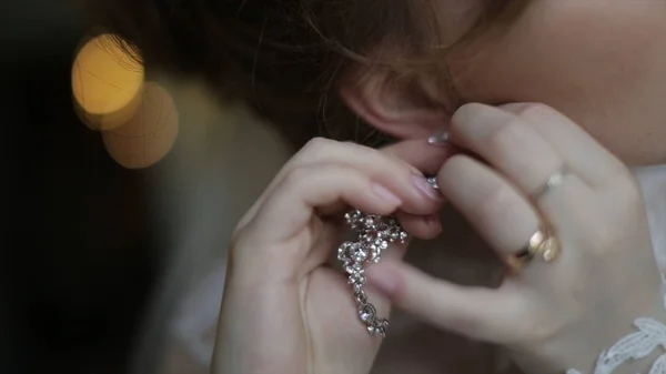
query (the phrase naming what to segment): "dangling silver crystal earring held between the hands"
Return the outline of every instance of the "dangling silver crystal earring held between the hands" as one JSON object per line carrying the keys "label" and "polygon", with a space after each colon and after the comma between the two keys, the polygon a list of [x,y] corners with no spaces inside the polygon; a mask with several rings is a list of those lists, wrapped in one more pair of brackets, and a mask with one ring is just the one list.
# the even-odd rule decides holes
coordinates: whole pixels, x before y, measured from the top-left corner
{"label": "dangling silver crystal earring held between the hands", "polygon": [[355,210],[346,213],[345,220],[359,237],[356,241],[342,243],[337,249],[337,260],[343,263],[349,283],[353,285],[361,322],[371,335],[384,337],[389,320],[379,317],[374,305],[367,302],[364,290],[365,267],[380,262],[381,254],[389,247],[389,243],[404,243],[408,235],[393,216],[384,218]]}

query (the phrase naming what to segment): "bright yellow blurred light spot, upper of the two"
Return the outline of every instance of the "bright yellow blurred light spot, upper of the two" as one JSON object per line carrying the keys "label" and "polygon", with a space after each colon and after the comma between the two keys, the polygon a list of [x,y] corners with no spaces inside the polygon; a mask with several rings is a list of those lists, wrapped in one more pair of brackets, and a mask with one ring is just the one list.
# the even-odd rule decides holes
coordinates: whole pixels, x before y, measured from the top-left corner
{"label": "bright yellow blurred light spot, upper of the two", "polygon": [[141,103],[143,65],[128,51],[118,37],[102,34],[88,41],[74,60],[74,107],[93,130],[125,123]]}

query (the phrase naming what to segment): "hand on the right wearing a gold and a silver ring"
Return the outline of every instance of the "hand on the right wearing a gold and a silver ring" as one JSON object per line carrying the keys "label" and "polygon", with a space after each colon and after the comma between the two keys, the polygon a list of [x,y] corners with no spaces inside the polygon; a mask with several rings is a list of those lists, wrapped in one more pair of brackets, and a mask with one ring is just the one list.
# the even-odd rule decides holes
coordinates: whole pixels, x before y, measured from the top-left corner
{"label": "hand on the right wearing a gold and a silver ring", "polygon": [[539,374],[592,372],[635,317],[663,317],[637,183],[581,127],[541,104],[466,104],[448,137],[487,164],[455,155],[437,174],[440,188],[498,255],[515,263],[542,226],[561,253],[551,262],[543,257],[552,253],[536,253],[496,290],[457,286],[400,261],[371,267],[370,282],[395,304],[502,344]]}

